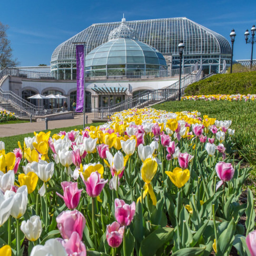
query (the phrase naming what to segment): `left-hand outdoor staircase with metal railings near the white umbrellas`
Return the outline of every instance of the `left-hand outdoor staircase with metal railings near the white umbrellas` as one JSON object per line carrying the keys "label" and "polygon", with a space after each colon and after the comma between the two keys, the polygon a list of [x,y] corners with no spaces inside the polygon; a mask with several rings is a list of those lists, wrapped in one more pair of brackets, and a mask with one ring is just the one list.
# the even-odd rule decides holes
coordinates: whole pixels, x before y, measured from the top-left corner
{"label": "left-hand outdoor staircase with metal railings near the white umbrellas", "polygon": [[44,115],[43,106],[35,106],[12,91],[4,91],[0,88],[0,96],[2,98],[0,106],[3,107],[4,105],[4,109],[14,112],[17,116],[24,117],[29,115]]}

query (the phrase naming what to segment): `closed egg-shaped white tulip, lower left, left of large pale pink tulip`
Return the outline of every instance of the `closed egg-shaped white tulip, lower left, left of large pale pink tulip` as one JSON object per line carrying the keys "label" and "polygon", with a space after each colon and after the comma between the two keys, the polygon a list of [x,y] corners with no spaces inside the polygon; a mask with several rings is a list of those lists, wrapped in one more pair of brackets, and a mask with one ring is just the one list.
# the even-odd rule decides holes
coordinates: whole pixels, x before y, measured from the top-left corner
{"label": "closed egg-shaped white tulip, lower left, left of large pale pink tulip", "polygon": [[42,222],[40,216],[31,216],[29,220],[23,221],[21,231],[29,241],[36,241],[42,233]]}

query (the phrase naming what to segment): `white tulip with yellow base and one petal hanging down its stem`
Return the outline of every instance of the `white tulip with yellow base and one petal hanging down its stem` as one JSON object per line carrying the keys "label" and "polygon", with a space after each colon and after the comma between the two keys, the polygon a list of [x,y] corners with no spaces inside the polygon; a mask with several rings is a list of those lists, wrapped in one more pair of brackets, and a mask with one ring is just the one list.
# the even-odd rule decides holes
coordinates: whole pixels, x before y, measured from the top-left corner
{"label": "white tulip with yellow base and one petal hanging down its stem", "polygon": [[45,194],[45,182],[49,181],[54,173],[54,163],[47,163],[46,161],[39,160],[32,162],[31,168],[35,170],[35,174],[40,180],[44,182],[38,193],[43,196]]}

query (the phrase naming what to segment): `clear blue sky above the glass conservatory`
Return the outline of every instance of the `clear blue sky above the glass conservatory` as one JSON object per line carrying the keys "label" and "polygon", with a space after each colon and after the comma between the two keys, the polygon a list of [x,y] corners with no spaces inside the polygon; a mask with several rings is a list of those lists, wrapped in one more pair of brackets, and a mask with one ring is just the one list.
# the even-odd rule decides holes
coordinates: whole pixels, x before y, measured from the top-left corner
{"label": "clear blue sky above the glass conservatory", "polygon": [[255,0],[9,0],[1,3],[0,21],[9,25],[8,38],[21,66],[37,66],[50,65],[52,52],[68,38],[93,23],[121,21],[123,13],[126,21],[187,17],[229,41],[234,28],[234,60],[251,57],[244,32],[256,24]]}

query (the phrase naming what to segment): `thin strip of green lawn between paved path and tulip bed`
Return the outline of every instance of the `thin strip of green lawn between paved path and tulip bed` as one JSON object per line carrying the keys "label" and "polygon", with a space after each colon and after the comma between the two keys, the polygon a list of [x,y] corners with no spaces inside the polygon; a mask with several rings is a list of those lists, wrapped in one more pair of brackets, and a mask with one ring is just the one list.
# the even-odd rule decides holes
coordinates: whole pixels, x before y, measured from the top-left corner
{"label": "thin strip of green lawn between paved path and tulip bed", "polygon": [[[91,126],[91,125],[98,126],[101,124],[103,124],[103,123],[86,124],[86,126]],[[83,129],[83,125],[57,128],[57,129],[53,129],[53,130],[44,130],[43,132],[51,131],[51,135],[53,135],[60,131],[70,132],[75,129],[77,129],[77,130]],[[34,136],[34,133],[26,133],[26,134],[21,134],[21,135],[16,135],[16,136],[0,137],[0,141],[3,141],[5,143],[5,151],[10,152],[10,151],[13,151],[16,147],[18,147],[18,141],[23,143],[25,137],[33,137],[33,136]]]}

